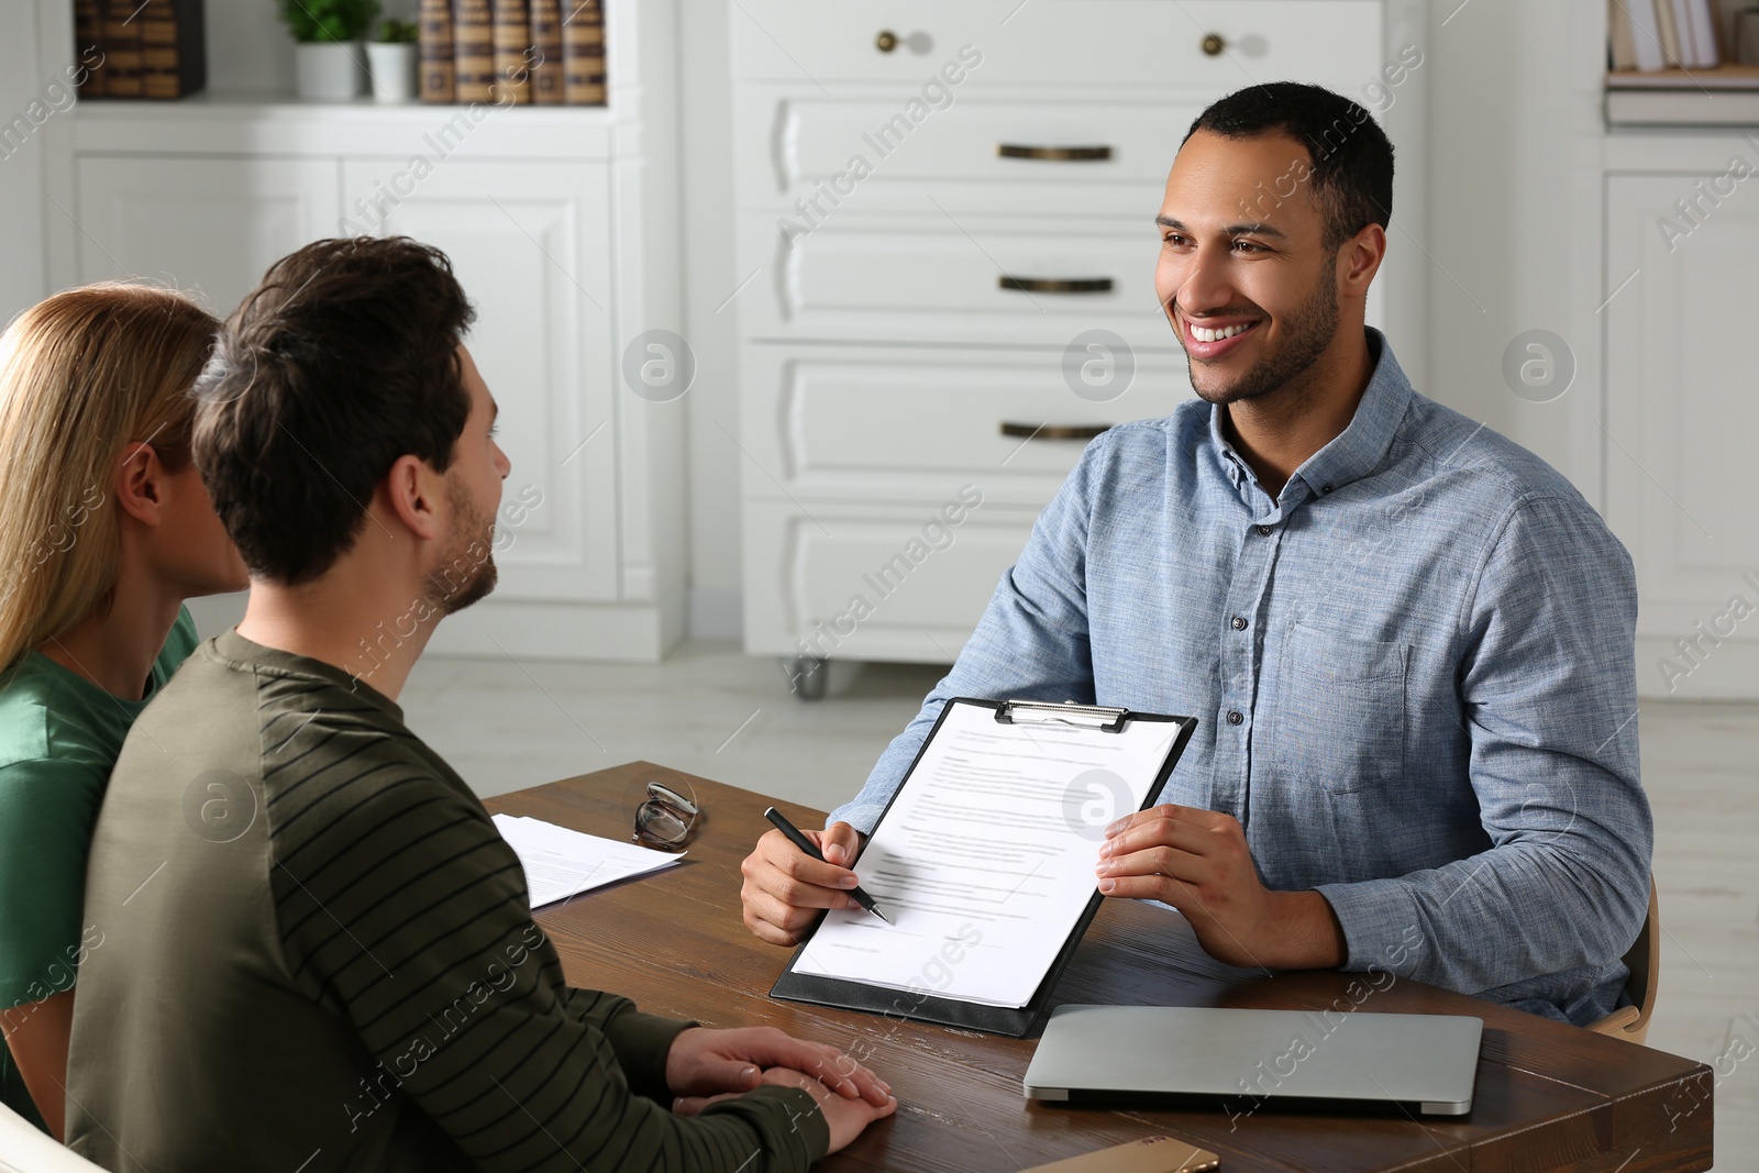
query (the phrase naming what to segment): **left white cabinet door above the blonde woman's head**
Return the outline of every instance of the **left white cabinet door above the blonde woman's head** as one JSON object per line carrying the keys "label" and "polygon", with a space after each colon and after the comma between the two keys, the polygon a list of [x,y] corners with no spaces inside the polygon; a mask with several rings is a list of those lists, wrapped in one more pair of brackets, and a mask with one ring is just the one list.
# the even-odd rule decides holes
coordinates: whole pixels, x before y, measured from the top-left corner
{"label": "left white cabinet door above the blonde woman's head", "polygon": [[336,181],[334,160],[79,158],[79,280],[165,281],[223,317],[271,264],[336,236]]}

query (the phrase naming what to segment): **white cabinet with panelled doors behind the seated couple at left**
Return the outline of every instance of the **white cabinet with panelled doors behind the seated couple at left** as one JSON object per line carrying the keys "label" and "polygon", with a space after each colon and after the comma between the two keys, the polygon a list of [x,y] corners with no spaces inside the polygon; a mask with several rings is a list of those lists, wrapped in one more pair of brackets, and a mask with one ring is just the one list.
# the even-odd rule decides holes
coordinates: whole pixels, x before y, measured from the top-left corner
{"label": "white cabinet with panelled doors behind the seated couple at left", "polygon": [[[684,633],[684,403],[624,376],[642,334],[681,327],[675,4],[605,9],[607,107],[218,91],[77,102],[42,130],[67,209],[44,223],[55,287],[141,276],[225,315],[313,239],[406,234],[450,257],[515,508],[496,593],[438,651],[658,659]],[[72,44],[69,5],[39,16]]]}

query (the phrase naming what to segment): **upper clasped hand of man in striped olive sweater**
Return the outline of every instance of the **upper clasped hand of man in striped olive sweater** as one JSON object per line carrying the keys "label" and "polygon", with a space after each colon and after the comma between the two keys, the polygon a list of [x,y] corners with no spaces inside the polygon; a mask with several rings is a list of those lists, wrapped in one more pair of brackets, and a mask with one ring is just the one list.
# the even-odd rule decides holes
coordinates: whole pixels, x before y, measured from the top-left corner
{"label": "upper clasped hand of man in striped olive sweater", "polygon": [[836,1046],[806,1043],[774,1027],[691,1027],[674,1039],[665,1076],[677,1096],[672,1111],[684,1117],[763,1083],[799,1087],[825,1113],[830,1152],[846,1147],[874,1120],[897,1111],[892,1089],[872,1071]]}

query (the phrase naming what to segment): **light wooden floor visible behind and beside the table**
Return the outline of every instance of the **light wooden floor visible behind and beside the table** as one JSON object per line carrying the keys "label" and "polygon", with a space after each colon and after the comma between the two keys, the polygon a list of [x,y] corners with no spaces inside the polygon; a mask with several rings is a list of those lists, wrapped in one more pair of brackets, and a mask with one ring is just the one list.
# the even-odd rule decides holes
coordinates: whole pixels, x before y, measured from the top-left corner
{"label": "light wooden floor visible behind and beside the table", "polygon": [[[660,665],[424,658],[410,726],[482,795],[646,758],[821,809],[860,788],[939,668],[832,665],[802,703],[770,659],[691,642]],[[1720,1169],[1759,1169],[1759,705],[1646,702],[1662,974],[1650,1046],[1710,1062]]]}

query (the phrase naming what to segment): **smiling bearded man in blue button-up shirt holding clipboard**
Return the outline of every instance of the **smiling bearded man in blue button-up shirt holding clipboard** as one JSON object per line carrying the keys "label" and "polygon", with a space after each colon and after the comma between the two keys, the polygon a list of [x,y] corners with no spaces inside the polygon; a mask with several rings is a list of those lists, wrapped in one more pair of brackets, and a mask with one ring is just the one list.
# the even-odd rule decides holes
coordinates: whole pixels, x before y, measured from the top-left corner
{"label": "smiling bearded man in blue button-up shirt holding clipboard", "polygon": [[1631,559],[1541,459],[1416,394],[1363,324],[1393,149],[1314,86],[1193,125],[1156,285],[1200,401],[1094,440],[959,663],[746,923],[846,907],[860,834],[950,696],[1189,712],[1099,890],[1219,960],[1376,965],[1553,1018],[1618,1006],[1648,904]]}

